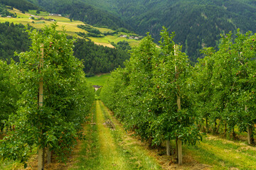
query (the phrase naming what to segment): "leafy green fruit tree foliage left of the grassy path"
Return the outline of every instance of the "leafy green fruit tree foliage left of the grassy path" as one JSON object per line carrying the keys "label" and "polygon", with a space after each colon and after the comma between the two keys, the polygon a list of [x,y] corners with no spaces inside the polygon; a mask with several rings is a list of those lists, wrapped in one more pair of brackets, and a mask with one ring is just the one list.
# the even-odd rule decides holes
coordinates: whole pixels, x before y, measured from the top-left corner
{"label": "leafy green fruit tree foliage left of the grassy path", "polygon": [[[63,30],[64,31],[64,30]],[[31,50],[21,52],[18,64],[19,88],[17,114],[9,123],[16,130],[8,132],[1,142],[4,158],[26,162],[31,147],[50,147],[65,162],[78,138],[82,139],[81,123],[94,100],[93,89],[87,85],[82,62],[73,56],[73,39],[56,24],[40,32],[29,30]],[[43,68],[38,69],[44,46]],[[38,82],[43,78],[43,106],[38,107]],[[39,140],[40,139],[40,140]]]}

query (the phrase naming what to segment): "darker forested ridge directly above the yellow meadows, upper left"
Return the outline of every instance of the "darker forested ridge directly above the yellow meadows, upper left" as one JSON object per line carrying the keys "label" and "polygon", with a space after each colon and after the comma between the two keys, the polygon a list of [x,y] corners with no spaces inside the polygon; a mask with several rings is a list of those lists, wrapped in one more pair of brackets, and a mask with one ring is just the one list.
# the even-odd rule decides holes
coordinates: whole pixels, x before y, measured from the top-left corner
{"label": "darker forested ridge directly above the yellow meadows, upper left", "polygon": [[93,26],[106,26],[116,30],[117,28],[129,28],[119,16],[108,11],[95,8],[84,1],[78,0],[28,0],[41,6],[50,13],[61,13],[69,16],[70,19],[83,21]]}

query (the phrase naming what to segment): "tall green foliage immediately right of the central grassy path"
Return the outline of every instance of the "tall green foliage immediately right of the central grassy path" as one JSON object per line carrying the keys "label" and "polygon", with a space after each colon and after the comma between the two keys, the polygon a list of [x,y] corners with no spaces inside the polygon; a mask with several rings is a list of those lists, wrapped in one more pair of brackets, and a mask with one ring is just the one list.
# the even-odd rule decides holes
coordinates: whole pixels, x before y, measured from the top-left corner
{"label": "tall green foliage immediately right of the central grassy path", "polygon": [[177,138],[194,145],[201,136],[191,107],[192,68],[181,49],[174,54],[173,38],[164,28],[159,51],[151,36],[146,36],[132,50],[126,67],[112,72],[101,93],[102,101],[126,127],[152,145]]}

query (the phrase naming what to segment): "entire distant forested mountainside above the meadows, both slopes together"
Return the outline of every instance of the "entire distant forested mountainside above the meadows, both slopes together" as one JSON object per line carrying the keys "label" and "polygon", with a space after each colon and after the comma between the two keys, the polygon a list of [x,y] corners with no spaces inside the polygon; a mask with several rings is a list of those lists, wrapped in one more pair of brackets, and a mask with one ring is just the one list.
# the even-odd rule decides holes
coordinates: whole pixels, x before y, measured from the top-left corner
{"label": "entire distant forested mountainside above the meadows, both slopes together", "polygon": [[202,57],[203,47],[217,48],[220,34],[256,28],[256,4],[250,0],[30,1],[94,26],[124,27],[139,35],[150,32],[154,42],[159,42],[159,31],[166,26],[176,33],[175,41],[192,62]]}

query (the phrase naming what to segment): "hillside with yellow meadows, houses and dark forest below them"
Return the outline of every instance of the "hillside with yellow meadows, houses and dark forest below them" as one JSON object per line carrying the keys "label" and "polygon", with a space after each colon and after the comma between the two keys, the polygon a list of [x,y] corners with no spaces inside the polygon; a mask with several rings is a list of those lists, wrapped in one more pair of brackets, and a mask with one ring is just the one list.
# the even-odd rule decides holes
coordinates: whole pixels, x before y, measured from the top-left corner
{"label": "hillside with yellow meadows, houses and dark forest below them", "polygon": [[[4,8],[0,6],[1,11],[13,13],[14,17],[0,17],[0,59],[8,60],[13,58],[18,62],[18,57],[14,52],[26,52],[31,45],[28,35],[24,31],[24,26],[29,25],[33,28],[43,28],[43,26],[55,23],[58,25],[57,30],[63,30],[68,35],[75,36],[78,40],[73,47],[75,57],[84,61],[84,71],[88,76],[93,74],[108,73],[113,69],[123,66],[123,62],[129,59],[127,49],[129,45],[137,45],[139,40],[128,39],[134,35],[127,30],[127,33],[111,30],[109,28],[96,28],[85,25],[81,21],[70,21],[63,16],[49,16],[49,13],[36,10],[28,10],[22,13],[16,8]],[[84,26],[87,29],[82,29]],[[97,30],[100,37],[93,37],[92,31]],[[120,30],[120,31],[122,31]],[[79,36],[83,35],[83,37]],[[127,38],[120,37],[127,35]]]}

